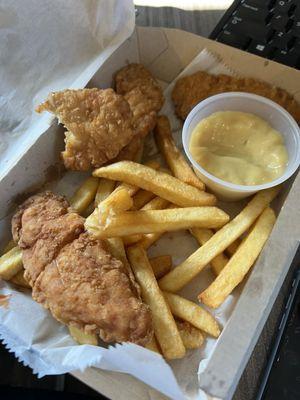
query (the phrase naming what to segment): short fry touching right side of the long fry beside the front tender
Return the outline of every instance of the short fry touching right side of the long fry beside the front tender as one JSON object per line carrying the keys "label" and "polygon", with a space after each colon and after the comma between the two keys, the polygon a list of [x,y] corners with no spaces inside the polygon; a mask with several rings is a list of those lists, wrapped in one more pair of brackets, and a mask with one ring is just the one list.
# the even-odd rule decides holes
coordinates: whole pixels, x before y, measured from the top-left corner
{"label": "short fry touching right side of the long fry beside the front tender", "polygon": [[184,299],[177,294],[163,292],[170,306],[172,314],[176,317],[189,322],[196,328],[208,333],[211,336],[218,337],[220,328],[215,318],[204,308]]}

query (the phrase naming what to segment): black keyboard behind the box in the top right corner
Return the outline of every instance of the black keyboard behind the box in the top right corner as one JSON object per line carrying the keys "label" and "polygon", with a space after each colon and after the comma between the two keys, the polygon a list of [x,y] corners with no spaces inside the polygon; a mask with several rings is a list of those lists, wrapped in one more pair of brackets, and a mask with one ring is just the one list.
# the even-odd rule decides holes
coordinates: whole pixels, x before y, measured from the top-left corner
{"label": "black keyboard behind the box in the top right corner", "polygon": [[235,1],[210,38],[300,69],[300,0]]}

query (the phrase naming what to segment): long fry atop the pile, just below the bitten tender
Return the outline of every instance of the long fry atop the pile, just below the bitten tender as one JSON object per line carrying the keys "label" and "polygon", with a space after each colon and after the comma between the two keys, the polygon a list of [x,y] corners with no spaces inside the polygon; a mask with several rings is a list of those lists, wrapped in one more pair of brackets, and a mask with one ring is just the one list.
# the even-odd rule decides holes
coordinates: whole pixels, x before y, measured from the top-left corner
{"label": "long fry atop the pile, just below the bitten tender", "polygon": [[182,207],[211,206],[216,203],[216,198],[212,194],[196,189],[164,172],[155,171],[132,161],[120,161],[98,168],[93,175],[139,186]]}

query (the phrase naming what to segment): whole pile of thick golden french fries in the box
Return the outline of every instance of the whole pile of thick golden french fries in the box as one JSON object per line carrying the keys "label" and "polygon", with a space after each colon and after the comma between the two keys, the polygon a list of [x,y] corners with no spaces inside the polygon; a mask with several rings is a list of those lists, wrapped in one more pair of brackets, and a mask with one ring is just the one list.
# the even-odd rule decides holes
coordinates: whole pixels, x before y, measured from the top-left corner
{"label": "whole pile of thick golden french fries in the box", "polygon": [[[176,292],[210,265],[215,279],[198,300],[219,307],[247,275],[270,235],[276,218],[269,205],[279,189],[259,192],[230,221],[176,147],[164,116],[158,118],[155,139],[170,172],[155,161],[117,162],[95,170],[70,203],[82,215],[94,204],[86,230],[106,240],[112,255],[131,268],[151,309],[155,336],[147,348],[176,359],[202,346],[206,335],[217,338],[221,332],[206,308]],[[198,250],[174,268],[169,254],[148,258],[147,249],[165,232],[180,229],[197,239]],[[29,287],[21,250],[12,242],[0,258],[0,277]],[[95,335],[69,329],[80,344],[98,343]]]}

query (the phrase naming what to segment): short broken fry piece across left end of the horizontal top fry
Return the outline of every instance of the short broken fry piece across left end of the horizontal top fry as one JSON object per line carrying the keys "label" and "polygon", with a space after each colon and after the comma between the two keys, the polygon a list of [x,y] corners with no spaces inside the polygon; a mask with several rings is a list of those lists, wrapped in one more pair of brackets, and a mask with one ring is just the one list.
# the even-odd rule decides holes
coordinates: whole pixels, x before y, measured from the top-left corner
{"label": "short broken fry piece across left end of the horizontal top fry", "polygon": [[132,198],[128,191],[125,188],[114,190],[85,220],[85,228],[90,234],[98,237],[98,230],[102,229],[101,224],[105,223],[109,215],[129,210],[131,207]]}

